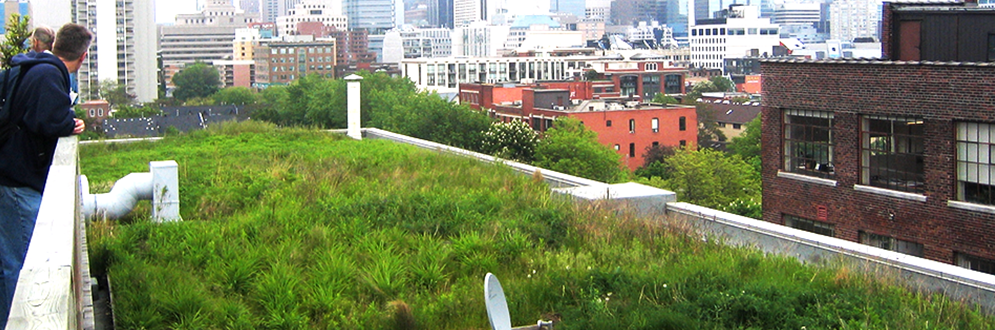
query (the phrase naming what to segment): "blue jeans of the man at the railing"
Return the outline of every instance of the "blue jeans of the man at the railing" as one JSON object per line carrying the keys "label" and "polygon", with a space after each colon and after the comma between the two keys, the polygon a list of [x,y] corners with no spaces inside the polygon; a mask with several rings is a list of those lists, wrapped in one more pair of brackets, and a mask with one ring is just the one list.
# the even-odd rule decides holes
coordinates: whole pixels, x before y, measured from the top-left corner
{"label": "blue jeans of the man at the railing", "polygon": [[17,276],[24,265],[40,207],[40,192],[0,185],[0,329],[7,325]]}

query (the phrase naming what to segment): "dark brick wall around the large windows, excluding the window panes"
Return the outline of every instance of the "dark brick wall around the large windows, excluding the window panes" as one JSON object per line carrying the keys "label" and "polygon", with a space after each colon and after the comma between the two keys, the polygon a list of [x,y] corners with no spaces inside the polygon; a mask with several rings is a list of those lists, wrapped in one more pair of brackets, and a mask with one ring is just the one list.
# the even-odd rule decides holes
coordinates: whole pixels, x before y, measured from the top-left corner
{"label": "dark brick wall around the large windows, excluding the window panes", "polygon": [[[995,121],[995,67],[771,61],[761,72],[764,220],[817,219],[824,206],[839,238],[857,241],[863,230],[922,243],[933,260],[952,263],[955,252],[995,259],[995,215],[947,206],[956,198],[955,124]],[[835,187],[777,176],[783,109],[834,113]],[[854,190],[867,114],[924,118],[925,202]]]}

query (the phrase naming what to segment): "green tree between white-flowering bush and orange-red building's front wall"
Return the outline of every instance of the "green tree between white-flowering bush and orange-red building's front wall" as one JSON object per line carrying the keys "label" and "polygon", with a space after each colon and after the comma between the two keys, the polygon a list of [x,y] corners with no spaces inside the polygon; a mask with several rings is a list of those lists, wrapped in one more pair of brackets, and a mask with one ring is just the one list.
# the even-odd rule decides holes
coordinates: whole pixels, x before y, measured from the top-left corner
{"label": "green tree between white-flowering bush and orange-red building's front wall", "polygon": [[601,182],[614,183],[625,177],[621,156],[598,142],[598,133],[570,117],[556,119],[553,128],[536,148],[538,167]]}

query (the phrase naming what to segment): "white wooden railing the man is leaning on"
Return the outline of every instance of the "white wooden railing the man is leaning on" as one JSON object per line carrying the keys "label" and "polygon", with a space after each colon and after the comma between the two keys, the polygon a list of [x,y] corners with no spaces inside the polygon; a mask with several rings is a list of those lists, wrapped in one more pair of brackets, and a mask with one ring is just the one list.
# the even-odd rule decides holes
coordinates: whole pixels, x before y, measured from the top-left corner
{"label": "white wooden railing the man is leaning on", "polygon": [[93,329],[77,137],[59,139],[7,329]]}

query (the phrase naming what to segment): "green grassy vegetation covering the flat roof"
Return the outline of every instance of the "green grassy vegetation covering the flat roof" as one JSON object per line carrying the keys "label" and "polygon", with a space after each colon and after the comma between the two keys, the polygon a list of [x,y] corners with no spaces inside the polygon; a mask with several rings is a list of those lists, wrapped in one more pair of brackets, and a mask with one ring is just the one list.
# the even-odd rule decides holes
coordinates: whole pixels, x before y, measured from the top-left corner
{"label": "green grassy vegetation covering the flat roof", "polygon": [[983,329],[942,296],[729,248],[576,206],[497,165],[382,140],[227,125],[86,145],[107,190],[180,164],[185,219],[94,222],[91,265],[122,329],[486,329],[483,275],[513,323],[560,329]]}

